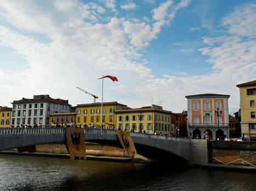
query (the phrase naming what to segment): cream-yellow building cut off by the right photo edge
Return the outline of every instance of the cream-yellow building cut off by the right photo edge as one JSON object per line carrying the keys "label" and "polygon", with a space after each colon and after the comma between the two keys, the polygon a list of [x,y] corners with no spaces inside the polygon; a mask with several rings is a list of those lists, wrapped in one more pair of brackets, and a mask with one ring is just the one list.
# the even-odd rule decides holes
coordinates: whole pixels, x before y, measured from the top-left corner
{"label": "cream-yellow building cut off by the right photo edge", "polygon": [[256,141],[256,80],[236,86],[240,89],[242,136],[244,139]]}

